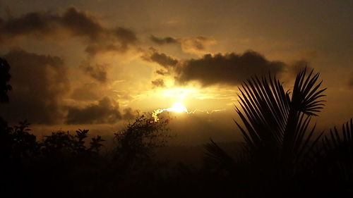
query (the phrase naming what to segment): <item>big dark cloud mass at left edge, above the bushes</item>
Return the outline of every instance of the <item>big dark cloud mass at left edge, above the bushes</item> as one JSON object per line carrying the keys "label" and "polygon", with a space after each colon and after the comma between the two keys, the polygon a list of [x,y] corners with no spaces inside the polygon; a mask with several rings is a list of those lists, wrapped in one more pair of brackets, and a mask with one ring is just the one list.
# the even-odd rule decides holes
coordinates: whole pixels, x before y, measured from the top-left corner
{"label": "big dark cloud mass at left edge, above the bushes", "polygon": [[69,91],[64,61],[23,50],[10,51],[4,58],[11,66],[13,91],[0,114],[10,122],[60,123],[65,116],[62,100]]}

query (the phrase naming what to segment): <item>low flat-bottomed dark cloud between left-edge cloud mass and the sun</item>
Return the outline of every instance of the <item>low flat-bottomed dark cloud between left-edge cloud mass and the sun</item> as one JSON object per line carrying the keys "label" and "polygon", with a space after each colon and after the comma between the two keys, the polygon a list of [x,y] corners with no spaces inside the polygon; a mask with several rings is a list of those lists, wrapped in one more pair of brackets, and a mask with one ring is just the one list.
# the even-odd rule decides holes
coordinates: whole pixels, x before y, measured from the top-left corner
{"label": "low flat-bottomed dark cloud between left-edge cloud mass and the sun", "polygon": [[84,108],[69,107],[66,117],[67,124],[98,124],[116,123],[121,120],[119,104],[104,97],[98,104],[90,104]]}

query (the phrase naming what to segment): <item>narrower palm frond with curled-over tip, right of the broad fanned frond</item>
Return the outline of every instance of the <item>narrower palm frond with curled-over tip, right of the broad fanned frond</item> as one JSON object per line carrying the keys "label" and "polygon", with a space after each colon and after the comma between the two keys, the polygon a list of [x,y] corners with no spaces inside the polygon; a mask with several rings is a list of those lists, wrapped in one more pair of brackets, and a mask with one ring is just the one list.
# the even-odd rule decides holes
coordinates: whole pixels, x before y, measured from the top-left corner
{"label": "narrower palm frond with curled-over tip, right of the broad fanned frond", "polygon": [[[294,82],[292,99],[289,106],[289,114],[285,135],[282,144],[282,161],[284,163],[294,163],[302,156],[308,156],[306,152],[311,151],[318,139],[311,140],[315,127],[307,133],[310,123],[310,116],[317,116],[316,113],[322,109],[323,100],[321,94],[325,89],[319,89],[322,82],[317,83],[319,73],[313,75],[313,70],[306,75],[306,68],[301,70]],[[304,118],[306,115],[306,118]],[[320,138],[321,135],[318,136]],[[299,149],[300,148],[300,149]]]}

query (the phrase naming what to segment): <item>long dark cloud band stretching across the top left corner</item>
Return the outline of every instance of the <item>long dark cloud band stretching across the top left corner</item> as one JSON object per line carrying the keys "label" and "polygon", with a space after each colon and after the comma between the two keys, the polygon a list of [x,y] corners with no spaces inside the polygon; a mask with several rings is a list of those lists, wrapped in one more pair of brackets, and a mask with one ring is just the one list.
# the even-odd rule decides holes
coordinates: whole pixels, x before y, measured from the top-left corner
{"label": "long dark cloud band stretching across the top left corner", "polygon": [[74,7],[61,14],[32,12],[8,20],[0,18],[3,44],[20,37],[48,39],[59,35],[83,38],[85,51],[92,56],[108,51],[123,53],[138,41],[133,31],[124,27],[103,27],[94,16]]}

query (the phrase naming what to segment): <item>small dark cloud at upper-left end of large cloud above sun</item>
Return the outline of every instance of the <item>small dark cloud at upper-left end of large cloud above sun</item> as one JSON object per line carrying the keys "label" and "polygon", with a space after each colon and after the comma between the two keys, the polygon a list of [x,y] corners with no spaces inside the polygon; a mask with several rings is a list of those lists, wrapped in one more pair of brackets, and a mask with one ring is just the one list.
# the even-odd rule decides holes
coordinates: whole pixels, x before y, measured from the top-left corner
{"label": "small dark cloud at upper-left end of large cloud above sun", "polygon": [[167,56],[164,53],[158,53],[157,50],[150,48],[150,53],[146,53],[141,58],[145,61],[158,63],[164,68],[174,67],[177,65],[178,60],[172,56]]}

